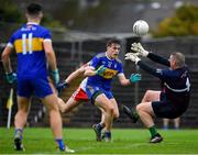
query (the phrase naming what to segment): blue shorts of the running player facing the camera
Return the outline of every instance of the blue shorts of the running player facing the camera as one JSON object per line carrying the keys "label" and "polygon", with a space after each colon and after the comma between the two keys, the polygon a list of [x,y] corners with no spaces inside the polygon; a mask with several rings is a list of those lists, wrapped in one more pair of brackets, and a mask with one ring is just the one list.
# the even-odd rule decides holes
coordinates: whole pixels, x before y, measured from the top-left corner
{"label": "blue shorts of the running player facing the camera", "polygon": [[110,90],[105,90],[101,87],[92,86],[92,85],[86,86],[86,93],[88,98],[91,100],[91,103],[95,103],[95,99],[101,93],[105,93],[108,99],[114,98]]}

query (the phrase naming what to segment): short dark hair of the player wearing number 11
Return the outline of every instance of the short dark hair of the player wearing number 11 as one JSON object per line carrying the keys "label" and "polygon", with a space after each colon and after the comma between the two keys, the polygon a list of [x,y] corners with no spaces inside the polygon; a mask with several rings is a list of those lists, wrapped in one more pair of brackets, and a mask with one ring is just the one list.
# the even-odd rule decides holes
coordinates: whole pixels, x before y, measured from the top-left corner
{"label": "short dark hair of the player wearing number 11", "polygon": [[30,15],[38,15],[43,11],[43,8],[38,3],[30,3],[26,7],[26,12]]}

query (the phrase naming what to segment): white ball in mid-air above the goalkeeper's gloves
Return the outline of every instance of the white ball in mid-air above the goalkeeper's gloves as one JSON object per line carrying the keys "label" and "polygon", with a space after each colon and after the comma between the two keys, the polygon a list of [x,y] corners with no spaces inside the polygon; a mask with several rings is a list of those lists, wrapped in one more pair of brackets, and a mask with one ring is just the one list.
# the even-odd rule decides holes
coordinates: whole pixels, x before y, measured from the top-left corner
{"label": "white ball in mid-air above the goalkeeper's gloves", "polygon": [[139,20],[133,24],[133,32],[139,36],[147,34],[148,29],[147,22],[143,20]]}

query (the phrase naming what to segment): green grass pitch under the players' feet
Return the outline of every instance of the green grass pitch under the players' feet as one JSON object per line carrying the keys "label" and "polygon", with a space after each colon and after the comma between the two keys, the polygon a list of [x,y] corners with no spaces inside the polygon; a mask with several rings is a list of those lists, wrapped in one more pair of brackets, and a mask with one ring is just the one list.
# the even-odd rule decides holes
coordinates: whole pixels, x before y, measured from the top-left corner
{"label": "green grass pitch under the players' feet", "polygon": [[[0,128],[0,154],[16,154],[13,129]],[[66,144],[76,154],[198,154],[198,130],[160,131],[164,141],[150,144],[147,130],[113,129],[113,141],[96,142],[91,129],[64,129]],[[50,129],[25,129],[23,154],[57,154]]]}

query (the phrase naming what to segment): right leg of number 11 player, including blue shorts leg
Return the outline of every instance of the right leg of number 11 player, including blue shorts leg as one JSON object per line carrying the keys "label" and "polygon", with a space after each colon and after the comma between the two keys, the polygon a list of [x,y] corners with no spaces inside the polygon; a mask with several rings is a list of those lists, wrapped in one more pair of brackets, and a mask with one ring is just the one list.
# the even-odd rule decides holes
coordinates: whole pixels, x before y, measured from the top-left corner
{"label": "right leg of number 11 player, including blue shorts leg", "polygon": [[51,129],[59,151],[74,152],[64,144],[62,117],[58,109],[58,97],[55,92],[53,92],[48,79],[46,77],[41,77],[32,79],[31,82],[34,86],[35,95],[41,98],[42,102],[47,107]]}

